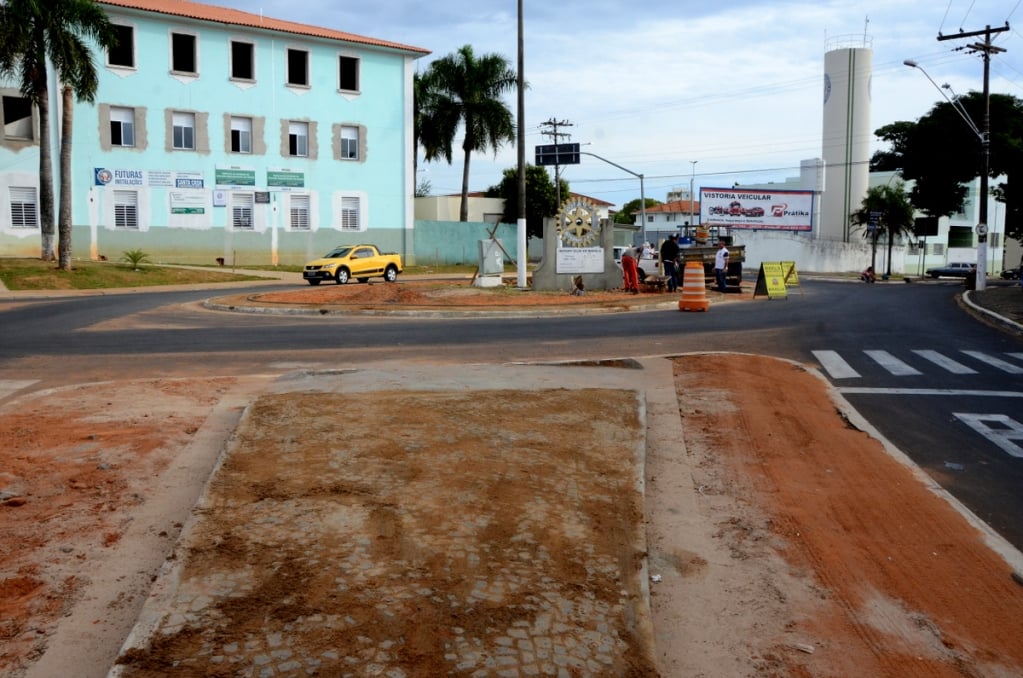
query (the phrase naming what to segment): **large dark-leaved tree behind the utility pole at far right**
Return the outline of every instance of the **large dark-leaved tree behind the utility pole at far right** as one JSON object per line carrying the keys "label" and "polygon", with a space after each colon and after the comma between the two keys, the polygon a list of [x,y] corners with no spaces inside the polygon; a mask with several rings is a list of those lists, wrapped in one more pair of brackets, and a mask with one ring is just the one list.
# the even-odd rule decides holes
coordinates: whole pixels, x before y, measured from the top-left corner
{"label": "large dark-leaved tree behind the utility pole at far right", "polygon": [[[970,92],[952,99],[975,125],[983,124],[984,96]],[[915,182],[909,197],[921,211],[943,217],[963,211],[969,184],[983,167],[979,131],[974,131],[957,107],[941,101],[916,123],[900,121],[875,134],[889,143],[871,159],[871,169],[898,170]],[[1005,176],[992,187],[1006,204],[1006,235],[1023,241],[1023,101],[1005,94],[990,95],[989,177]],[[1016,184],[1013,177],[1018,177]]]}

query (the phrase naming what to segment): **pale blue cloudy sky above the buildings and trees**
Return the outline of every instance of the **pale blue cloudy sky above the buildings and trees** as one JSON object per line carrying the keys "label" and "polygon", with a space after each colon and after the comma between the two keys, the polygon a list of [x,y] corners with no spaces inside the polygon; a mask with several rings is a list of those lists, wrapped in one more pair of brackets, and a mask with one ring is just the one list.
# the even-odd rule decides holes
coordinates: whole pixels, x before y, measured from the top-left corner
{"label": "pale blue cloudy sky above the buildings and trees", "polygon": [[[515,0],[205,0],[278,18],[391,40],[431,51],[419,67],[460,46],[518,61]],[[644,176],[648,197],[672,188],[782,181],[820,155],[825,52],[852,39],[873,50],[871,129],[917,120],[940,100],[938,85],[980,90],[983,61],[939,41],[1000,28],[991,91],[1023,98],[1023,0],[524,0],[526,157],[551,143],[541,123],[582,150]],[[517,110],[516,94],[507,100]],[[977,121],[978,124],[980,121]],[[992,121],[996,124],[996,121]],[[470,189],[515,167],[514,144],[473,156]],[[457,193],[454,164],[426,165],[434,194]],[[693,162],[696,161],[696,165]],[[420,165],[420,167],[422,167]],[[572,190],[618,207],[639,196],[632,174],[583,155],[564,170]]]}

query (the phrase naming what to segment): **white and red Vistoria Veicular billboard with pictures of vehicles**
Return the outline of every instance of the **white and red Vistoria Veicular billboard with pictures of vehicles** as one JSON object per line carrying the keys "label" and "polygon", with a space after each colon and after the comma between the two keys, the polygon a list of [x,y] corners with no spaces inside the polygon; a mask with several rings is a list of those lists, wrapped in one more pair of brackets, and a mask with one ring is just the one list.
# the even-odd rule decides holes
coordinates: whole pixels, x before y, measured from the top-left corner
{"label": "white and red Vistoria Veicular billboard with pictures of vehicles", "polygon": [[813,191],[701,188],[700,223],[770,231],[813,229]]}

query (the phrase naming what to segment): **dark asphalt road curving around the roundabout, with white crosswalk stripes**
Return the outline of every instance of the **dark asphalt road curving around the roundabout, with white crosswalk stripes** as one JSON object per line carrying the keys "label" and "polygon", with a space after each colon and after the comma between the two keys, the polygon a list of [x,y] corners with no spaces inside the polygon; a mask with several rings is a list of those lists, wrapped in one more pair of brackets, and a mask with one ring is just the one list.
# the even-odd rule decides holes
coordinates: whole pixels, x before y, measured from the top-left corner
{"label": "dark asphalt road curving around the roundabout, with white crosswalk stripes", "polygon": [[209,289],[0,300],[0,385],[283,373],[399,359],[457,365],[765,354],[819,367],[874,426],[1023,548],[1023,340],[966,314],[954,301],[960,288],[804,279],[787,300],[715,305],[708,313],[547,318],[230,314],[198,306],[220,293]]}

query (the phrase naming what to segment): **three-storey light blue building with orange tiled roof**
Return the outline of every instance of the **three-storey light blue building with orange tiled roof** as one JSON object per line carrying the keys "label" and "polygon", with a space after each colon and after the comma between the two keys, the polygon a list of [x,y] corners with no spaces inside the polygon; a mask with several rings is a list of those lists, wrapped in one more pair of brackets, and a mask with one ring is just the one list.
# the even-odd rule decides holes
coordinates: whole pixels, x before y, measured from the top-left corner
{"label": "three-storey light blue building with orange tiled roof", "polygon": [[[75,106],[76,259],[297,264],[371,241],[414,260],[427,50],[184,0],[99,4],[120,40],[95,54],[95,104]],[[0,94],[0,254],[38,256],[38,115]]]}

